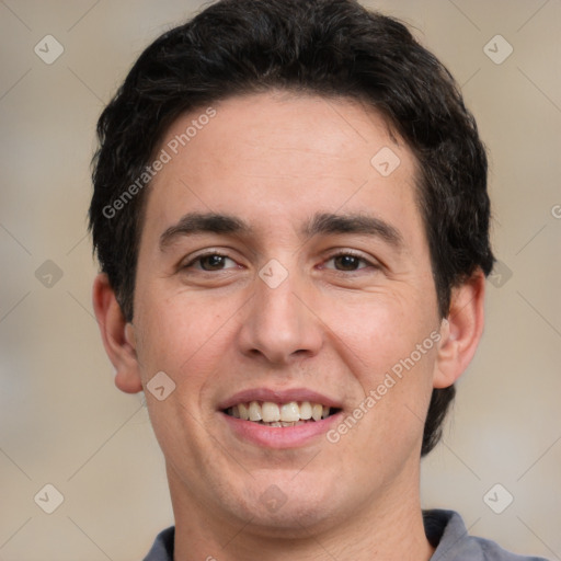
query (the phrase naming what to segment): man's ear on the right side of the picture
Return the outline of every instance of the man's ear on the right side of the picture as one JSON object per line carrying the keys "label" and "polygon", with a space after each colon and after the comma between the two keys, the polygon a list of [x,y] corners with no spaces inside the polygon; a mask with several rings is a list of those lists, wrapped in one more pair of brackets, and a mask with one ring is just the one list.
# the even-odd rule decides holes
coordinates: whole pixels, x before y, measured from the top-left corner
{"label": "man's ear on the right side of the picture", "polygon": [[466,370],[483,333],[485,276],[478,270],[451,291],[448,318],[443,320],[433,377],[434,388],[451,386]]}

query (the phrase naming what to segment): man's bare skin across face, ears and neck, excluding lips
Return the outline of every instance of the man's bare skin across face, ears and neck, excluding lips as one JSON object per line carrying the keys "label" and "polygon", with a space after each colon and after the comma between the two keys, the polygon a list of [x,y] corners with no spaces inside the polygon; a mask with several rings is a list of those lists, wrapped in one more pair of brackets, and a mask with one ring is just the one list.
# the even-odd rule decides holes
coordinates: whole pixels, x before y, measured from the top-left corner
{"label": "man's bare skin across face, ears and neck, excluding lips", "polygon": [[[146,391],[167,460],[175,560],[420,560],[420,449],[431,392],[465,370],[483,328],[484,278],[437,312],[415,199],[415,159],[373,110],[348,100],[268,92],[214,105],[208,125],[154,178],[140,237],[134,320],[101,274],[93,301],[116,385],[146,389],[158,371],[176,385]],[[179,118],[162,142],[201,112]],[[370,163],[389,147],[400,165]],[[187,213],[227,214],[251,234],[160,237]],[[376,217],[399,232],[304,231],[316,213]],[[194,260],[227,256],[214,271]],[[352,252],[359,260],[333,259]],[[288,276],[259,276],[277,260]],[[364,260],[364,261],[362,261]],[[221,267],[221,268],[220,268]],[[218,404],[250,388],[308,388],[347,416],[431,333],[438,344],[337,443],[324,435],[275,448],[240,438]],[[282,428],[279,428],[282,430]],[[262,500],[276,485],[286,502]],[[265,495],[267,496],[267,495]]]}

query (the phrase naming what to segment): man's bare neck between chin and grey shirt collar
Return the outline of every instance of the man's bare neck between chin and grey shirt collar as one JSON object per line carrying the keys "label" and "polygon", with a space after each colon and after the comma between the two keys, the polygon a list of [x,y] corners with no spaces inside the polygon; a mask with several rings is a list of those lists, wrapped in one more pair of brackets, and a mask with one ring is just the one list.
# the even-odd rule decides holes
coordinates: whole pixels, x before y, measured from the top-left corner
{"label": "man's bare neck between chin and grey shirt collar", "polygon": [[[417,474],[419,476],[419,474]],[[321,527],[296,522],[284,535],[266,533],[259,520],[234,520],[193,497],[169,470],[175,516],[174,561],[427,561],[434,552],[423,526],[419,477],[373,496],[366,507]],[[302,520],[304,522],[304,520]],[[255,554],[259,552],[259,556]]]}

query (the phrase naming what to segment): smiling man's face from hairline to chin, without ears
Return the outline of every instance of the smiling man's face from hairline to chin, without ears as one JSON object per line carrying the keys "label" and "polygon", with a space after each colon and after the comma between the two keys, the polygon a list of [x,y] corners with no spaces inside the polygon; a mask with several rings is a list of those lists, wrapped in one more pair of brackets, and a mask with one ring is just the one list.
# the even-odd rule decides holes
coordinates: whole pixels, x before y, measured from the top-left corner
{"label": "smiling man's face from hairline to chin, without ears", "polygon": [[[440,322],[413,156],[351,101],[214,108],[176,154],[205,108],[168,130],[138,256],[138,376],[175,383],[161,401],[146,391],[172,497],[263,531],[366,518],[411,494],[433,388]],[[309,417],[302,402],[334,414],[233,416],[251,402],[253,419]]]}

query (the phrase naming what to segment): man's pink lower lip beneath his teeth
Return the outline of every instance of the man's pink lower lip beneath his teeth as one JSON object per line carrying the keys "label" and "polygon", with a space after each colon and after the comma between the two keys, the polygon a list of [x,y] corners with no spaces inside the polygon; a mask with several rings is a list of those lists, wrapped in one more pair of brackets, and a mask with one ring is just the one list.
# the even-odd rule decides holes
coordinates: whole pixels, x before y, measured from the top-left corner
{"label": "man's pink lower lip beneath his teeth", "polygon": [[297,448],[325,435],[337,423],[341,412],[321,421],[311,421],[295,426],[267,426],[253,421],[243,421],[219,412],[230,430],[241,439],[268,448]]}

